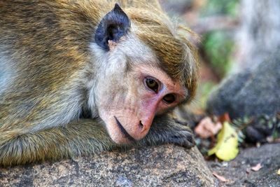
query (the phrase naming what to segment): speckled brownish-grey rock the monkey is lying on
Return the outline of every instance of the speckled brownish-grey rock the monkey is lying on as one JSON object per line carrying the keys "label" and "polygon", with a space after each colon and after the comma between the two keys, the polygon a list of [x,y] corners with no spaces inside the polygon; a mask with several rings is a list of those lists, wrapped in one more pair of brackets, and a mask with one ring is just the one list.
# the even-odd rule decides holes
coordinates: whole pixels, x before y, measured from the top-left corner
{"label": "speckled brownish-grey rock the monkey is lying on", "polygon": [[0,168],[0,186],[216,186],[197,148],[163,145]]}

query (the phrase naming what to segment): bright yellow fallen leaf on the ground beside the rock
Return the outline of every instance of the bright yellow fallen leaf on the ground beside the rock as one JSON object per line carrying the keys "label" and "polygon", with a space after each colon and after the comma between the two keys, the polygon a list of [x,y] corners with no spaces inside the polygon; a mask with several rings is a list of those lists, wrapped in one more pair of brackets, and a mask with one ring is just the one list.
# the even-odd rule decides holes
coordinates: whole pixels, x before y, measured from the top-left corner
{"label": "bright yellow fallen leaf on the ground beside the rock", "polygon": [[214,148],[208,151],[208,155],[216,154],[221,160],[232,160],[238,153],[238,138],[235,129],[227,121],[218,134],[218,142]]}

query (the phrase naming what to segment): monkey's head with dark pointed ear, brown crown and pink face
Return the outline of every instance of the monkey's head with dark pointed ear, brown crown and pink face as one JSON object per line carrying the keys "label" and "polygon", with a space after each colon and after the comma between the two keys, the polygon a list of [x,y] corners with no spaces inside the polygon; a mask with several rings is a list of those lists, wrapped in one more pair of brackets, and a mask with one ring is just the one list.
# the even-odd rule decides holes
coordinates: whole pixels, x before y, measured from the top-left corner
{"label": "monkey's head with dark pointed ear, brown crown and pink face", "polygon": [[190,101],[197,80],[193,47],[163,13],[125,11],[116,4],[91,44],[97,71],[88,103],[118,144],[142,139],[156,115]]}

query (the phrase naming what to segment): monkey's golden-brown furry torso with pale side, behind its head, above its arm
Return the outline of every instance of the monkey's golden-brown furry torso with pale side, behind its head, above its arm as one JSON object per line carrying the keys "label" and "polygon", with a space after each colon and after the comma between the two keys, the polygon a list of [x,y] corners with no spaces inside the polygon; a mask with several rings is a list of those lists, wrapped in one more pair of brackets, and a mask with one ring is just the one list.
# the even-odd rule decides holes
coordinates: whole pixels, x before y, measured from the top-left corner
{"label": "monkey's golden-brown furry torso with pale side, behind its head, above its arm", "polygon": [[[73,107],[83,99],[83,90],[74,85],[89,61],[98,20],[94,6],[90,13],[83,6],[78,1],[0,1],[0,125],[54,110],[52,118],[64,118],[59,116],[67,106],[59,104],[69,100]],[[42,110],[46,113],[34,112]]]}

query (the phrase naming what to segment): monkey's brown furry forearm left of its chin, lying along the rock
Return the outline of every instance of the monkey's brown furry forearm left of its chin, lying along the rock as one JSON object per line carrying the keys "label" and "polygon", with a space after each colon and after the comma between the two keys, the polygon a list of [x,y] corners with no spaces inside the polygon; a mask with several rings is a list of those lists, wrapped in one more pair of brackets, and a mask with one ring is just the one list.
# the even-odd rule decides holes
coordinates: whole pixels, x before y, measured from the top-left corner
{"label": "monkey's brown furry forearm left of its chin, lying along the rock", "polygon": [[102,122],[81,119],[64,127],[22,134],[0,144],[0,165],[73,158],[114,147],[117,145],[111,141]]}

